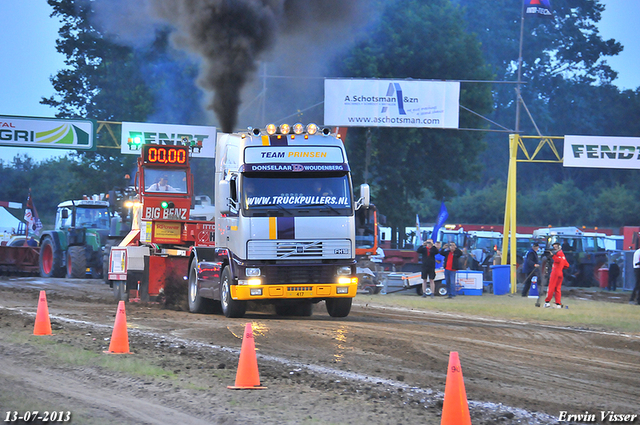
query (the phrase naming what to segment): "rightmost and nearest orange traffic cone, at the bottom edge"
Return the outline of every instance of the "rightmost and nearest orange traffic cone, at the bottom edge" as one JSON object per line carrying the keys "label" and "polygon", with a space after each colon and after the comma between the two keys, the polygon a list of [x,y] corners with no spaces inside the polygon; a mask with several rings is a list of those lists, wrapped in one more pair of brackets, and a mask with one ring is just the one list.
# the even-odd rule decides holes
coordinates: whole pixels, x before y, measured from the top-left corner
{"label": "rightmost and nearest orange traffic cone, at the bottom edge", "polygon": [[462,368],[458,353],[449,353],[447,383],[444,387],[444,405],[442,406],[441,425],[471,425],[467,392],[464,389]]}

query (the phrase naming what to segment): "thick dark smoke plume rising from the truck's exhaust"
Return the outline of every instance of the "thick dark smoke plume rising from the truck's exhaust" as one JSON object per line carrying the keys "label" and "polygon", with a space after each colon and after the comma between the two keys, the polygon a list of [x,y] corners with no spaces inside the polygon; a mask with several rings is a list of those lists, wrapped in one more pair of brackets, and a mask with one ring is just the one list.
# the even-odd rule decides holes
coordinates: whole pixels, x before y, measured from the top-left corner
{"label": "thick dark smoke plume rising from the truck's exhaust", "polygon": [[[304,40],[309,51],[343,37],[362,22],[364,0],[151,0],[174,26],[174,42],[202,58],[198,84],[214,93],[208,105],[223,132],[238,120],[242,88],[278,40]],[[352,25],[353,24],[353,25]],[[307,41],[308,40],[308,41]],[[282,50],[282,48],[278,49]]]}

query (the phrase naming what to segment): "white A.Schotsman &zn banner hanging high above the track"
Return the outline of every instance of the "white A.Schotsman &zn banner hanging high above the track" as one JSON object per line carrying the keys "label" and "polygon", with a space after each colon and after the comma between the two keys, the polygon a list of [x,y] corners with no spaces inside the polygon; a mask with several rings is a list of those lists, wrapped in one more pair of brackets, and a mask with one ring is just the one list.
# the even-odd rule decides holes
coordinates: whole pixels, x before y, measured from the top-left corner
{"label": "white A.Schotsman &zn banner hanging high above the track", "polygon": [[458,128],[460,82],[324,80],[324,125]]}

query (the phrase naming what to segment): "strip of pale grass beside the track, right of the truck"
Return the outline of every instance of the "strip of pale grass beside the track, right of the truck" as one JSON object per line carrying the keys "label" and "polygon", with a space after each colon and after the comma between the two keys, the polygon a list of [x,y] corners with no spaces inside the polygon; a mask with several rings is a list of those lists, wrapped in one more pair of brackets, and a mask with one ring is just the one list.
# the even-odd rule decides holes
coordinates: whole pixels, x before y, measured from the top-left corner
{"label": "strip of pale grass beside the track, right of the truck", "polygon": [[[623,297],[628,298],[628,293]],[[454,299],[422,298],[415,292],[388,295],[358,294],[354,300],[357,304],[372,306],[426,309],[503,320],[640,334],[640,306],[636,304],[591,301],[564,296],[562,301],[568,308],[536,307],[534,298],[523,298],[520,294],[493,295],[486,292],[481,296],[459,295]]]}

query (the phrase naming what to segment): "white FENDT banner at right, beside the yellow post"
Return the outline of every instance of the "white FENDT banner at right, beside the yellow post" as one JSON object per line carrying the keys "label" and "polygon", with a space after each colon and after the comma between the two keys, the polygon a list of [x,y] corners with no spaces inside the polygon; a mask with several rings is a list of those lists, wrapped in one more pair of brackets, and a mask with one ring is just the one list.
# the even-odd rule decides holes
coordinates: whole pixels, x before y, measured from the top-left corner
{"label": "white FENDT banner at right, beside the yellow post", "polygon": [[564,136],[563,165],[640,169],[640,138]]}

